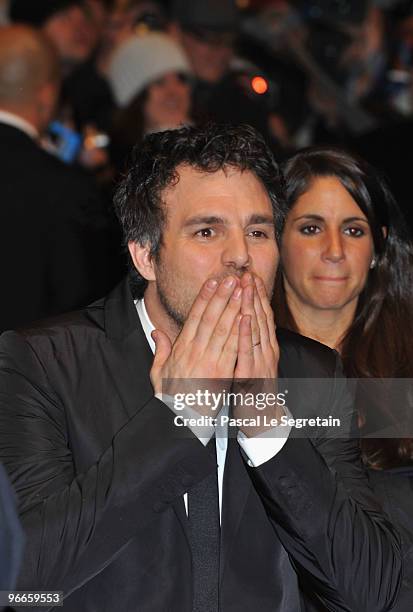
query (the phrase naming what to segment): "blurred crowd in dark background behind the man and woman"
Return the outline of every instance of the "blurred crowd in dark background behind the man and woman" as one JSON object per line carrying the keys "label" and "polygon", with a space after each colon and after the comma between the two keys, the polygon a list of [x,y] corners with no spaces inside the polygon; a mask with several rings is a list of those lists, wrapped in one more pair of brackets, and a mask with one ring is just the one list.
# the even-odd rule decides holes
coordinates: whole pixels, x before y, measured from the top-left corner
{"label": "blurred crowd in dark background behind the man and woman", "polygon": [[[0,24],[0,35],[23,24],[50,43],[59,77],[37,142],[84,175],[107,231],[98,240],[105,252],[95,250],[97,267],[110,262],[100,282],[45,314],[98,297],[124,273],[112,194],[133,145],[151,131],[249,123],[280,161],[313,144],[345,147],[384,173],[413,227],[413,1],[0,0]],[[27,60],[25,30],[14,32],[12,43],[0,39],[0,111],[19,114],[34,104],[26,88],[12,102],[2,94],[16,57]],[[26,64],[31,75],[42,70]],[[0,150],[10,155],[12,147]],[[20,164],[23,182],[26,171]]]}

